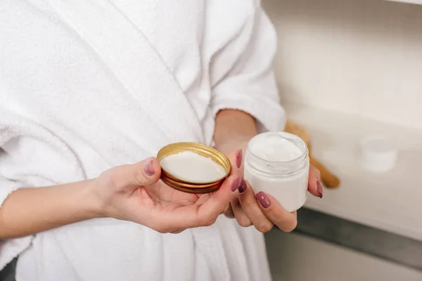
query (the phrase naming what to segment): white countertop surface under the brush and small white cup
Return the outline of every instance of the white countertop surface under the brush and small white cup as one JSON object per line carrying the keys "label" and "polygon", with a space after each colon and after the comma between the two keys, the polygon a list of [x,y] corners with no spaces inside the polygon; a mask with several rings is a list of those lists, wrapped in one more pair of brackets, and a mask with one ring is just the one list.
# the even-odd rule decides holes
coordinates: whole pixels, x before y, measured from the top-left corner
{"label": "white countertop surface under the brush and small white cup", "polygon": [[[316,159],[342,184],[308,196],[306,207],[422,241],[422,131],[339,112],[290,105],[288,117],[307,126]],[[357,162],[357,143],[369,133],[383,133],[399,148],[393,171],[373,174]]]}

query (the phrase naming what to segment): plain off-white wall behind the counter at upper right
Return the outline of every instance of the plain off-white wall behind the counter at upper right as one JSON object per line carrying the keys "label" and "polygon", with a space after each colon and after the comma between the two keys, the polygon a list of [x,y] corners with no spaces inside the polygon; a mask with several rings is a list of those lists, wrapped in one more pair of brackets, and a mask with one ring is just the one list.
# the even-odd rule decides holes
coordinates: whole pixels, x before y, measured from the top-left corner
{"label": "plain off-white wall behind the counter at upper right", "polygon": [[422,6],[264,0],[283,101],[422,129]]}

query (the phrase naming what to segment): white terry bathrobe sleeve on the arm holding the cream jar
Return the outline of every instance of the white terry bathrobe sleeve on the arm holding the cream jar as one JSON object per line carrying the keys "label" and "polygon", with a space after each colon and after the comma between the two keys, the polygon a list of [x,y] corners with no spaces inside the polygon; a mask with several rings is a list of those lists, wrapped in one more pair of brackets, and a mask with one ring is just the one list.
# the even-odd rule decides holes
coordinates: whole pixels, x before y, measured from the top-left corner
{"label": "white terry bathrobe sleeve on the arm holding the cream jar", "polygon": [[268,16],[255,6],[211,62],[214,116],[223,109],[242,110],[257,119],[260,131],[283,131],[286,117],[272,68],[276,40]]}

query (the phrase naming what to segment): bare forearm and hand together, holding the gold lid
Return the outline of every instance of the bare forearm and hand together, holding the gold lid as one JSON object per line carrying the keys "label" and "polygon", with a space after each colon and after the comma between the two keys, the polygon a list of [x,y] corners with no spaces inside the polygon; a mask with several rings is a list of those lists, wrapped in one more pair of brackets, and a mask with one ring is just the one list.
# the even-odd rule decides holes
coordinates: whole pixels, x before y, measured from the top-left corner
{"label": "bare forearm and hand together, holding the gold lid", "polygon": [[165,185],[160,174],[158,160],[148,158],[117,166],[92,180],[19,188],[1,205],[0,240],[98,217],[133,221],[160,233],[210,226],[238,196],[242,182],[232,175],[217,192],[192,195]]}

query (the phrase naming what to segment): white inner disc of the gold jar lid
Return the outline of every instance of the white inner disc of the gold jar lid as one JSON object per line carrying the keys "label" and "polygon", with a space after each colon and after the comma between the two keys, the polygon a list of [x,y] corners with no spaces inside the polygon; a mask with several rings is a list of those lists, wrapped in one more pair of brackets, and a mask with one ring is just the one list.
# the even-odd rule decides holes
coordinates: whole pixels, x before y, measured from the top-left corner
{"label": "white inner disc of the gold jar lid", "polygon": [[221,165],[191,151],[166,156],[160,164],[167,173],[190,183],[212,183],[226,176]]}

